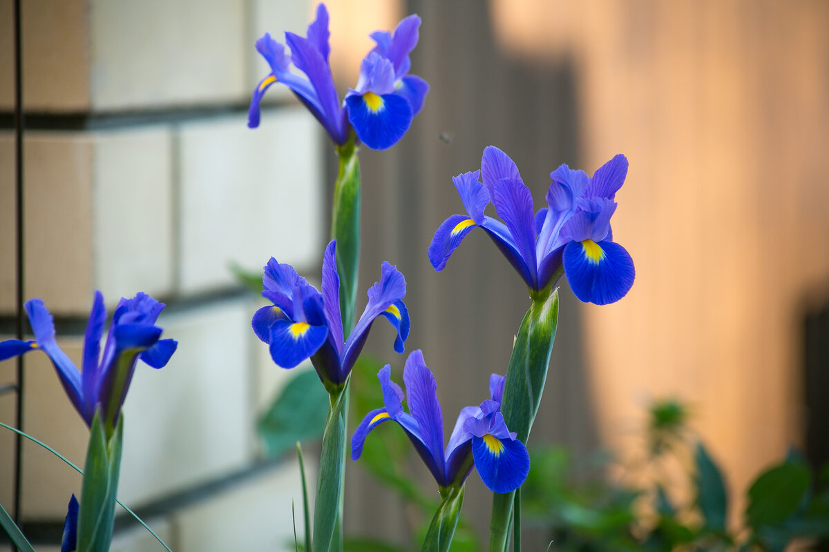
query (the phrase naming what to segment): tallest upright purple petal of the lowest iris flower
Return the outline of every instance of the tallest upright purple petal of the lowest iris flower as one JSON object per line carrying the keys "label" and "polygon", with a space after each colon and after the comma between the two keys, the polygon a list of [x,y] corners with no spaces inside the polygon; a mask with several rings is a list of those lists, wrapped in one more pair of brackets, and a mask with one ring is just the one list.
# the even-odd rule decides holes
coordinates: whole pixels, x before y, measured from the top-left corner
{"label": "tallest upright purple petal of the lowest iris flower", "polygon": [[414,420],[417,420],[423,443],[436,464],[438,473],[435,478],[443,485],[446,481],[444,415],[438,401],[438,384],[434,381],[434,374],[426,366],[423,353],[419,349],[413,351],[406,359],[403,381],[406,384],[409,411]]}

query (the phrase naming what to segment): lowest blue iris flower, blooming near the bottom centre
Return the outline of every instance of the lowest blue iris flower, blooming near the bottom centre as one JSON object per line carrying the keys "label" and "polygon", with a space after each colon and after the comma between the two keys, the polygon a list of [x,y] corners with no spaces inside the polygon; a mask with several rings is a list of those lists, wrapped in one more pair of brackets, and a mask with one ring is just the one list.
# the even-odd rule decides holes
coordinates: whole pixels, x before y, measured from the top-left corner
{"label": "lowest blue iris flower, blooming near the bottom centre", "polygon": [[390,379],[388,364],[377,374],[385,406],[371,410],[351,438],[351,459],[362,454],[366,435],[387,420],[394,420],[409,435],[420,458],[442,489],[460,487],[472,468],[492,492],[511,492],[521,487],[530,471],[530,456],[516,434],[507,430],[501,414],[504,378],[490,378],[490,400],[461,410],[444,449],[444,416],[440,410],[434,375],[423,353],[406,359],[403,381],[409,393],[409,410],[403,410],[403,391]]}

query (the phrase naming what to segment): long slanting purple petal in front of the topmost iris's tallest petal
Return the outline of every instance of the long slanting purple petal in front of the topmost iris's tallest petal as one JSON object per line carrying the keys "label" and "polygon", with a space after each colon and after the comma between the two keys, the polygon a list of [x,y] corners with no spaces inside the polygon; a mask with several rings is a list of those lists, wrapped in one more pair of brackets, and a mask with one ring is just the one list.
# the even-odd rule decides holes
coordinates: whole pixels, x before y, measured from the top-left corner
{"label": "long slanting purple petal in front of the topmost iris's tallest petal", "polygon": [[331,67],[327,60],[322,56],[322,52],[318,50],[317,46],[307,38],[295,35],[293,32],[286,32],[285,41],[288,42],[288,46],[291,48],[293,65],[296,65],[298,70],[308,75],[308,79],[317,93],[321,112],[314,113],[314,115],[322,123],[322,127],[327,130],[334,142],[340,145],[344,144],[347,140],[347,132],[344,129],[342,108],[340,108],[337,89],[334,87]]}

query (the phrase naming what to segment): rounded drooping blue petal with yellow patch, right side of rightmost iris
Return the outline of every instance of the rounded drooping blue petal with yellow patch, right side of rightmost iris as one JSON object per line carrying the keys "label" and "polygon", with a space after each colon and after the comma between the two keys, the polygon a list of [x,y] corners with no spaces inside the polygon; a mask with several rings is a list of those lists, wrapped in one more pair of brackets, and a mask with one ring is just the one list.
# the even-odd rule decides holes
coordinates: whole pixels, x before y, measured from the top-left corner
{"label": "rounded drooping blue petal with yellow patch, right side of rightmost iris", "polygon": [[622,299],[636,277],[633,259],[614,242],[570,242],[563,260],[570,289],[585,303],[607,305]]}

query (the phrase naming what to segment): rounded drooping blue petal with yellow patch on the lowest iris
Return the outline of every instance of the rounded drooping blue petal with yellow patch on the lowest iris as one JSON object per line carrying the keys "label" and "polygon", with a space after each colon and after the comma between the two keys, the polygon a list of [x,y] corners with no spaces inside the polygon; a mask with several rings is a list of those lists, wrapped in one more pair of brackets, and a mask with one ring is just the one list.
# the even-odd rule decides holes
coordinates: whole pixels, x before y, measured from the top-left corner
{"label": "rounded drooping blue petal with yellow patch on the lowest iris", "polygon": [[517,439],[497,439],[491,434],[472,439],[475,468],[492,492],[511,492],[521,487],[530,472],[530,455]]}

